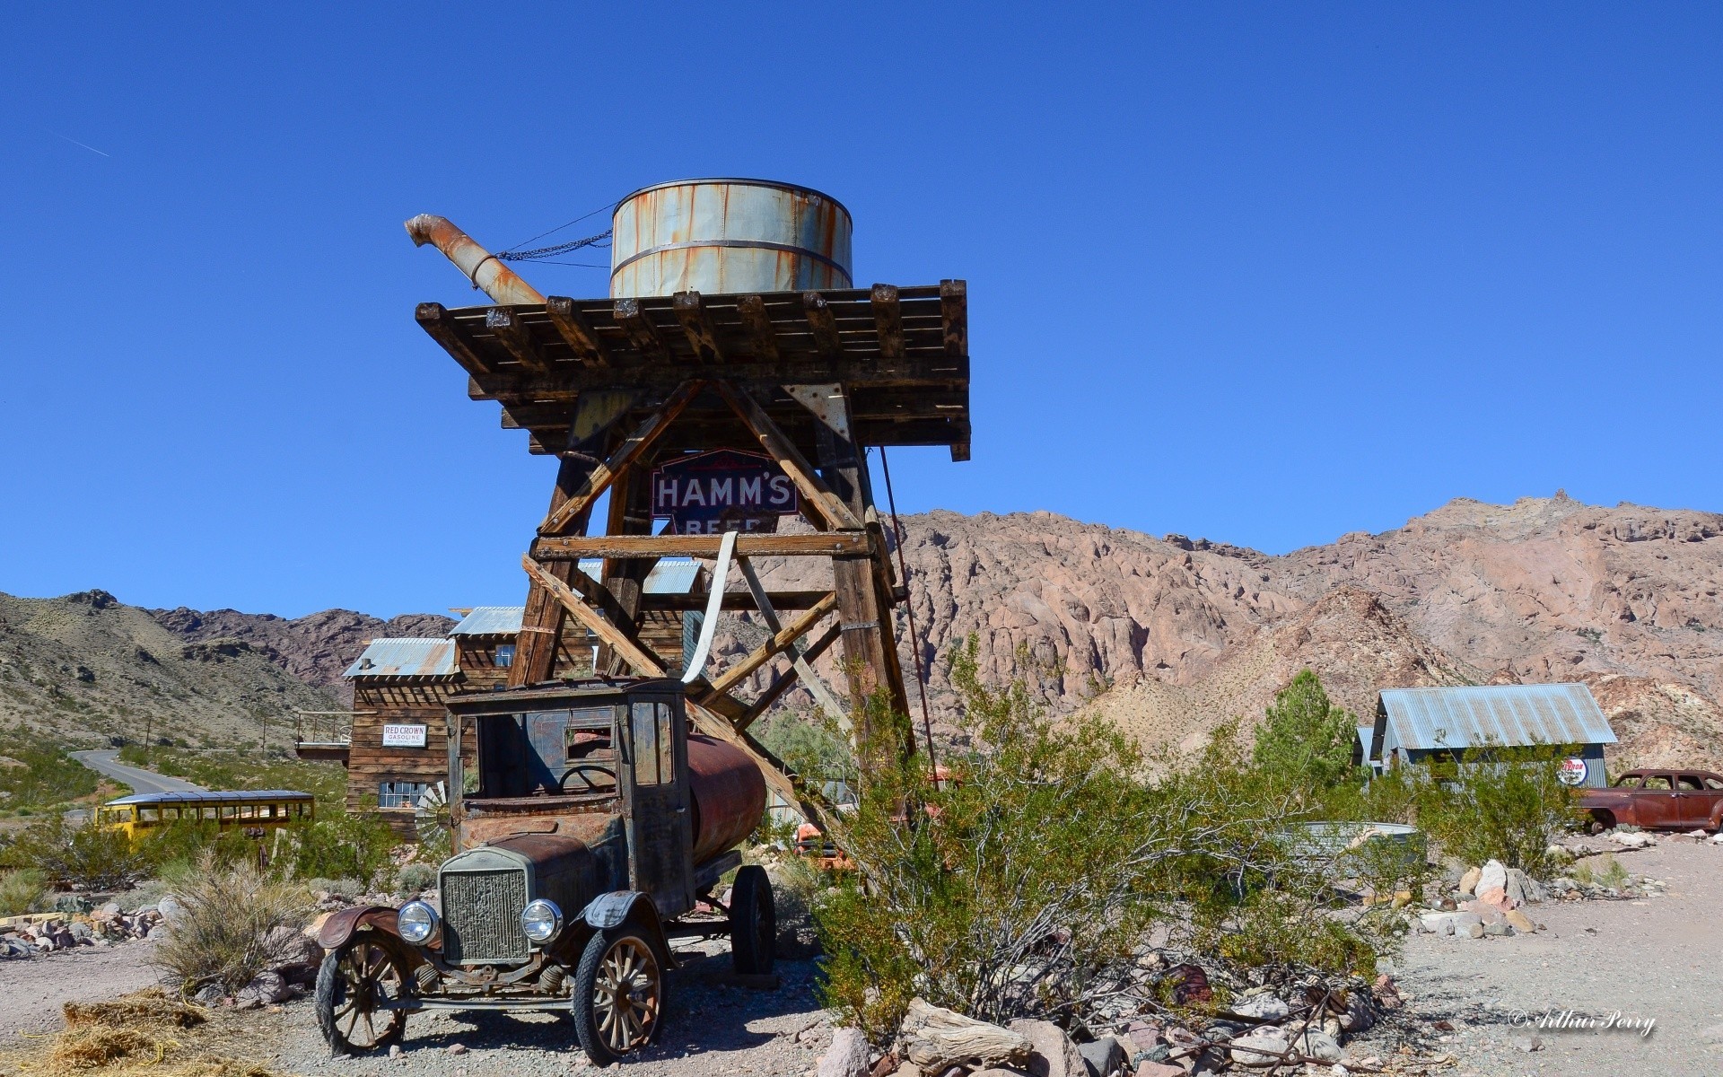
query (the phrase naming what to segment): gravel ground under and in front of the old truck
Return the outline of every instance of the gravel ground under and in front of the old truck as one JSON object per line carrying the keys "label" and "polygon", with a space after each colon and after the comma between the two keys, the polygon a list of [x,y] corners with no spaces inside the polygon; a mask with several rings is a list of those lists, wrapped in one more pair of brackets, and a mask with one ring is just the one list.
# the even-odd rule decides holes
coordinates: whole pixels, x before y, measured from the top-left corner
{"label": "gravel ground under and in front of the old truck", "polygon": [[[629,1077],[796,1077],[830,1043],[830,1027],[813,1001],[813,963],[777,963],[777,991],[710,986],[703,972],[731,967],[727,943],[679,948],[684,962],[669,975],[669,1018],[658,1046],[625,1063]],[[598,1070],[586,1063],[574,1024],[555,1013],[415,1013],[407,1018],[400,1058],[329,1058],[308,999],[281,1015],[260,1015],[277,1039],[272,1065],[286,1074],[364,1077],[448,1074],[450,1077],[541,1077]],[[798,1037],[799,1036],[799,1037]],[[462,1044],[465,1055],[450,1055]],[[619,1070],[612,1070],[619,1072]]]}

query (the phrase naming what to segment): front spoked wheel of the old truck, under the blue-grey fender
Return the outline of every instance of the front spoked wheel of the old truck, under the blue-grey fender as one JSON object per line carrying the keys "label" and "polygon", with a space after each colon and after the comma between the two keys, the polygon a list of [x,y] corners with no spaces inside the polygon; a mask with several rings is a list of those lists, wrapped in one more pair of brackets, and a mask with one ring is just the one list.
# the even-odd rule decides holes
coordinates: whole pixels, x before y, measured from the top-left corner
{"label": "front spoked wheel of the old truck, under the blue-grey fender", "polygon": [[593,1065],[610,1065],[658,1039],[663,965],[636,927],[624,924],[586,943],[574,974],[574,1027]]}

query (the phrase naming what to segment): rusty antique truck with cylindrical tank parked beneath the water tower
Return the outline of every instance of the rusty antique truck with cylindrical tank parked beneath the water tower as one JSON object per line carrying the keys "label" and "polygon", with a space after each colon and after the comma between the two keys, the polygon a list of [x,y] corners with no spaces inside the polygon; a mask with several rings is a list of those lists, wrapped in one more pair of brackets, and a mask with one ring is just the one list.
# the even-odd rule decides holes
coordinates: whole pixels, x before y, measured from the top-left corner
{"label": "rusty antique truck with cylindrical tank parked beneath the water tower", "polygon": [[315,1010],[336,1055],[398,1043],[420,1010],[557,1010],[608,1065],[656,1039],[672,939],[729,936],[736,972],[772,970],[772,886],[734,851],[765,781],[689,731],[682,691],[596,679],[450,700],[455,855],[438,906],[346,908],[319,931]]}

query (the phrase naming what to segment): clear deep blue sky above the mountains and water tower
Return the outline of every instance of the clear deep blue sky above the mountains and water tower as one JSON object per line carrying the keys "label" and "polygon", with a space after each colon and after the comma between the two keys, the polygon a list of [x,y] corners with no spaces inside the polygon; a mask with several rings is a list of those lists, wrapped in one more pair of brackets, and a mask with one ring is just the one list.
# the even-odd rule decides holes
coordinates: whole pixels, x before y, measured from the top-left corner
{"label": "clear deep blue sky above the mountains and water tower", "polygon": [[1723,508],[1716,5],[308,9],[0,16],[0,591],[520,601],[553,465],[414,324],[474,293],[401,221],[684,176],[968,279],[975,458],[898,453],[905,510]]}

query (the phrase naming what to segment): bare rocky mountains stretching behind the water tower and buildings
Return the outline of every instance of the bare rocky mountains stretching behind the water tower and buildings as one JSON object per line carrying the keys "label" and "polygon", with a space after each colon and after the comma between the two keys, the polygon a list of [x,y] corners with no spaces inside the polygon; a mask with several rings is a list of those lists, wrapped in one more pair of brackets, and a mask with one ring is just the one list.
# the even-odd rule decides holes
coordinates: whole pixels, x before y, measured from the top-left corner
{"label": "bare rocky mountains stretching behind the water tower and buildings", "polygon": [[[1253,720],[1304,667],[1359,715],[1373,712],[1380,688],[1578,679],[1621,738],[1614,765],[1723,770],[1718,514],[1602,508],[1563,495],[1513,505],[1456,500],[1404,527],[1282,557],[1046,512],[930,512],[903,524],[936,720],[951,719],[956,705],[944,657],[973,636],[986,675],[1025,675],[1053,710],[1094,707],[1149,743],[1194,743],[1227,717]],[[760,567],[768,586],[829,582],[818,558]],[[348,610],[293,620],[146,612],[98,591],[0,600],[0,717],[64,725],[84,713],[71,701],[84,700],[112,724],[121,707],[141,713],[148,689],[134,681],[167,691],[159,667],[171,663],[186,700],[200,698],[193,688],[212,693],[186,703],[186,713],[227,729],[233,713],[264,703],[281,713],[310,705],[289,698],[329,707],[326,693],[339,694],[339,672],[367,639],[439,636],[450,624],[432,613],[379,620]],[[898,634],[913,670],[901,608]],[[725,615],[715,651],[720,660],[741,655],[760,636],[748,619]],[[26,653],[28,674],[19,665]],[[96,679],[83,681],[78,667]],[[841,682],[836,655],[820,667]],[[756,674],[751,688],[768,675]],[[110,688],[112,698],[103,694]],[[913,707],[913,688],[910,698]],[[789,703],[812,700],[791,694]]]}

